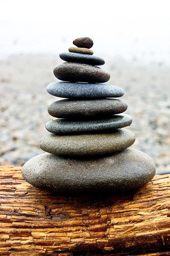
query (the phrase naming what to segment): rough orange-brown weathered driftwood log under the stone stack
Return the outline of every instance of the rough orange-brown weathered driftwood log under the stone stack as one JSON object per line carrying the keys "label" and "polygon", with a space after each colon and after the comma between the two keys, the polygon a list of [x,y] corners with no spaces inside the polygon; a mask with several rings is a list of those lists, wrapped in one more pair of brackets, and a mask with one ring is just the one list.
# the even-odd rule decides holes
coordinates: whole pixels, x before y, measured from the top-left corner
{"label": "rough orange-brown weathered driftwood log under the stone stack", "polygon": [[0,167],[0,255],[170,255],[169,175],[124,195],[65,197]]}

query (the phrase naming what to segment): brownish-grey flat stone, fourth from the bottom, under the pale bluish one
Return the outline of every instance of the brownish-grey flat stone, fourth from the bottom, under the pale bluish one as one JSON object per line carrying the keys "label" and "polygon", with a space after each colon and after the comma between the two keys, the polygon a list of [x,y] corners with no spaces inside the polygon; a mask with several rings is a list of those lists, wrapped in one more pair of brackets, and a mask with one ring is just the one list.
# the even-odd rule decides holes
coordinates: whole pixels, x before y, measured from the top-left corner
{"label": "brownish-grey flat stone, fourth from the bottom, under the pale bluish one", "polygon": [[123,113],[128,105],[122,100],[58,100],[48,107],[51,116],[58,118],[77,118],[88,116],[109,116]]}

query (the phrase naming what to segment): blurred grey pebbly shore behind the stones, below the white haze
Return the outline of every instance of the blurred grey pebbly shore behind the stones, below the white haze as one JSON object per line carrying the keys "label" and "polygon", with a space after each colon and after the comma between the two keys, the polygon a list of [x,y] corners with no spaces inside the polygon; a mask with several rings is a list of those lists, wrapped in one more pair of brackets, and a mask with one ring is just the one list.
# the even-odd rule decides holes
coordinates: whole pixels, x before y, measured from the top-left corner
{"label": "blurred grey pebbly shore behind the stones, below the white haze", "polygon": [[[0,165],[23,165],[43,153],[39,140],[48,133],[44,125],[52,119],[47,107],[59,99],[48,94],[46,86],[57,81],[53,68],[62,62],[58,55],[15,55],[0,61]],[[133,118],[128,127],[136,135],[132,147],[151,156],[157,172],[170,170],[169,68],[121,58],[103,68],[111,74],[108,84],[125,90],[120,99],[128,104],[126,113]]]}

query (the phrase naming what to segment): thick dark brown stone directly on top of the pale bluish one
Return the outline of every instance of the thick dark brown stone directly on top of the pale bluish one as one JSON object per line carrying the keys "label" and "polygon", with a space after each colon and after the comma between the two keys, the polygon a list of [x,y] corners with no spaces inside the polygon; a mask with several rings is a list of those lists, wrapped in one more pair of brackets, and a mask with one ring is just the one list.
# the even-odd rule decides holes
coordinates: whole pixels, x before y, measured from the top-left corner
{"label": "thick dark brown stone directly on top of the pale bluish one", "polygon": [[54,68],[54,75],[62,81],[105,83],[110,74],[103,68],[77,62],[64,62]]}

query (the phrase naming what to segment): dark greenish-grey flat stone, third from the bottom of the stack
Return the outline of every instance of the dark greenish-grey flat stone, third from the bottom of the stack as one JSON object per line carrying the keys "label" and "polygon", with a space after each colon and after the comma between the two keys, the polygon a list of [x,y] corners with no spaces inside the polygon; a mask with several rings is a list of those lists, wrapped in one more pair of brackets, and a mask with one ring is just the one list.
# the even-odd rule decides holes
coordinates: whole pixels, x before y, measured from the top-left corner
{"label": "dark greenish-grey flat stone, third from the bottom of the stack", "polygon": [[86,132],[108,132],[126,127],[132,123],[131,116],[127,114],[113,115],[104,119],[67,120],[55,119],[45,124],[49,132],[55,134],[76,134]]}

